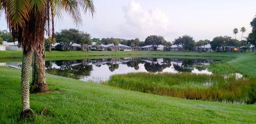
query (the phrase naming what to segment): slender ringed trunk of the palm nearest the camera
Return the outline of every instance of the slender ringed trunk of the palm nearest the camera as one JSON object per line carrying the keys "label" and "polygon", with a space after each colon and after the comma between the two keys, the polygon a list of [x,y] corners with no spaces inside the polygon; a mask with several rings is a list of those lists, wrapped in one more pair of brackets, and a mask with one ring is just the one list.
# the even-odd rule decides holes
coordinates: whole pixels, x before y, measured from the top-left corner
{"label": "slender ringed trunk of the palm nearest the camera", "polygon": [[30,109],[29,104],[29,77],[30,69],[33,58],[33,52],[31,50],[23,50],[22,67],[21,67],[21,102],[22,111],[21,117],[27,117],[29,114],[33,114],[33,110]]}

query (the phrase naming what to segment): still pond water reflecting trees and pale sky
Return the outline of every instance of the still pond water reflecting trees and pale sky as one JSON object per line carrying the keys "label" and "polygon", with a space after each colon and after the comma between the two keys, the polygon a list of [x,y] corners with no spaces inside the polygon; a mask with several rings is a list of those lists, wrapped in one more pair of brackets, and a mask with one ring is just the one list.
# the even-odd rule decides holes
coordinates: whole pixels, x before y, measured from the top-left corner
{"label": "still pond water reflecting trees and pale sky", "polygon": [[82,81],[107,81],[111,75],[136,72],[209,74],[214,60],[170,58],[113,58],[46,61],[46,72]]}

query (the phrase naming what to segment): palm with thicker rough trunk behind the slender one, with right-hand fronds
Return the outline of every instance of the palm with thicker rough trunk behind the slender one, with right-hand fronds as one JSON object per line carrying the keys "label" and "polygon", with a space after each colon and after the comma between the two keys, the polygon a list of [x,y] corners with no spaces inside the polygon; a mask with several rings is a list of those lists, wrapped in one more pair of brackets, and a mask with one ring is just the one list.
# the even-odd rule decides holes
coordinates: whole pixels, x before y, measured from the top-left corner
{"label": "palm with thicker rough trunk behind the slender one, with right-hand fronds", "polygon": [[[52,41],[54,39],[54,17],[55,15],[61,16],[60,8],[62,10],[65,10],[68,14],[71,15],[72,19],[76,23],[76,25],[79,25],[82,23],[82,17],[80,14],[80,10],[83,11],[90,11],[93,15],[94,13],[94,5],[92,0],[45,0],[46,6],[45,6],[45,22],[42,24],[42,27],[45,27],[47,25],[47,33],[50,37],[50,21],[52,24]],[[51,19],[50,19],[51,16]],[[43,30],[43,28],[42,28]],[[44,33],[41,33],[44,35]],[[36,45],[35,50],[35,63],[34,63],[34,73],[33,73],[33,86],[31,90],[33,92],[47,92],[48,91],[48,85],[46,84],[46,78],[45,78],[45,49],[44,49],[44,41],[39,40]]]}

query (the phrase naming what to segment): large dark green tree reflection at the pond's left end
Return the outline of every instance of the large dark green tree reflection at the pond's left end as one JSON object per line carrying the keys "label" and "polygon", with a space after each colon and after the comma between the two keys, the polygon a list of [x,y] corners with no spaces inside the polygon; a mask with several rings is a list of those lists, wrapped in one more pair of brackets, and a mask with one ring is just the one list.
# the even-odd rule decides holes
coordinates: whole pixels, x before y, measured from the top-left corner
{"label": "large dark green tree reflection at the pond's left end", "polygon": [[90,73],[93,70],[92,65],[84,64],[87,63],[87,60],[79,60],[77,62],[76,64],[78,65],[72,66],[72,64],[75,64],[74,61],[56,61],[55,64],[60,65],[60,68],[50,67],[47,68],[46,72],[75,79],[80,79],[83,76],[90,76]]}

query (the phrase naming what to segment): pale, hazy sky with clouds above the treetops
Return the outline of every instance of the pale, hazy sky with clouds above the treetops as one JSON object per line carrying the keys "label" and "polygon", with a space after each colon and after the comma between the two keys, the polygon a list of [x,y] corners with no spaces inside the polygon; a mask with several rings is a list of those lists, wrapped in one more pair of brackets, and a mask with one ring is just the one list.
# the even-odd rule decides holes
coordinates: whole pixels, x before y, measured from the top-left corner
{"label": "pale, hazy sky with clouds above the treetops", "polygon": [[[167,41],[189,35],[197,40],[212,40],[231,36],[233,29],[246,28],[256,15],[255,0],[94,0],[96,13],[82,14],[83,23],[76,26],[68,14],[55,19],[55,31],[75,28],[91,34],[92,38],[139,38],[163,36]],[[2,13],[4,14],[4,13]],[[7,29],[4,16],[0,30]],[[242,33],[237,34],[241,39]]]}

